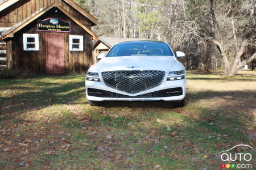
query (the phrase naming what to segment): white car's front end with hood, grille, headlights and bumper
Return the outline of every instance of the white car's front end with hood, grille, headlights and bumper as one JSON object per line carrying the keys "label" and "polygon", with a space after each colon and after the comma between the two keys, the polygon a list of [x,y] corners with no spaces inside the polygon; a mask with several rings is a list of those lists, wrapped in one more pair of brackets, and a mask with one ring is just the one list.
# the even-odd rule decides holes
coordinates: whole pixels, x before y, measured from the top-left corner
{"label": "white car's front end with hood, grille, headlights and bumper", "polygon": [[171,56],[104,57],[86,74],[89,101],[181,101],[185,67]]}

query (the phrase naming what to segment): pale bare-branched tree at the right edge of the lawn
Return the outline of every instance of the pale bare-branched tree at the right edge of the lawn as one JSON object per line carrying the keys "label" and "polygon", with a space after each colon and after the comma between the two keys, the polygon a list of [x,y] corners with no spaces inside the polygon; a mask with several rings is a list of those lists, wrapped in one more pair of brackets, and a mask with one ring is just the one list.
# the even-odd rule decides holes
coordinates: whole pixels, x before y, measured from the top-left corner
{"label": "pale bare-branched tree at the right edge of the lawn", "polygon": [[[237,71],[256,57],[255,52],[255,1],[209,0],[212,15],[207,29],[202,29],[205,41],[217,46],[227,75]],[[249,57],[246,49],[253,48]]]}

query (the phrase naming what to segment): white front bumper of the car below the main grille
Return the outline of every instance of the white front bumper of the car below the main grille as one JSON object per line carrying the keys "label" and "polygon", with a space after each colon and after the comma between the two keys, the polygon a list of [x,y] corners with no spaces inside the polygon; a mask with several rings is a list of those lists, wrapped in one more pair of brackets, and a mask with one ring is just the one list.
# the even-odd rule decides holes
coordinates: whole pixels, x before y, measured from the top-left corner
{"label": "white front bumper of the car below the main grille", "polygon": [[[182,88],[182,95],[177,96],[168,96],[168,97],[136,97],[136,96],[143,96],[144,94],[149,94],[156,91],[162,91],[167,90],[171,88]],[[123,95],[126,97],[98,97],[98,96],[91,96],[88,95],[88,88],[93,88],[96,90],[104,90],[111,93]],[[166,78],[163,80],[162,84],[160,84],[157,87],[151,88],[150,90],[146,90],[143,92],[139,92],[137,94],[129,94],[127,92],[118,91],[114,88],[110,88],[106,86],[101,79],[101,82],[94,82],[86,80],[85,82],[85,91],[86,91],[86,98],[88,100],[92,101],[157,101],[157,100],[163,100],[163,101],[176,101],[176,100],[183,100],[185,97],[185,91],[186,91],[186,79],[181,80],[173,80],[173,81],[167,81]],[[130,96],[130,97],[129,97]]]}

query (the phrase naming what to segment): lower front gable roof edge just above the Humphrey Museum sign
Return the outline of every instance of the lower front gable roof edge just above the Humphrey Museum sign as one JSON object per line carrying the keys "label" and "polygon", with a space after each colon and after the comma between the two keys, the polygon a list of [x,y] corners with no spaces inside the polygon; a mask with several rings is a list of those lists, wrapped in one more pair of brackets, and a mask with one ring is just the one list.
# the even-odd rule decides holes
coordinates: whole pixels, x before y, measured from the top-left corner
{"label": "lower front gable roof edge just above the Humphrey Museum sign", "polygon": [[6,31],[1,33],[2,39],[5,40],[10,37],[14,37],[14,33],[18,32],[20,29],[26,27],[26,25],[30,24],[39,16],[43,15],[45,12],[51,10],[51,8],[57,7],[60,11],[62,11],[65,15],[67,15],[70,19],[73,20],[76,24],[78,24],[82,29],[84,29],[86,32],[89,33],[93,37],[94,40],[98,38],[98,36],[93,33],[89,28],[85,27],[82,23],[79,22],[79,20],[75,19],[72,15],[70,15],[66,10],[64,10],[63,7],[58,5],[56,2],[53,2],[51,5],[45,8],[41,8],[39,11],[35,12],[34,14],[30,15],[28,18],[24,19],[22,22],[15,24],[13,27],[10,29],[7,29]]}

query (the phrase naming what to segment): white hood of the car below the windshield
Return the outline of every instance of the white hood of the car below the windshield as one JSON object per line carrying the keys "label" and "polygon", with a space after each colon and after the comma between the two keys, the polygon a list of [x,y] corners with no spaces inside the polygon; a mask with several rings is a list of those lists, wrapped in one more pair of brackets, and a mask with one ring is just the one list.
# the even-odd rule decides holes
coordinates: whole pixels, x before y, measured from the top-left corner
{"label": "white hood of the car below the windshield", "polygon": [[161,70],[170,71],[177,59],[173,56],[104,57],[90,71]]}

